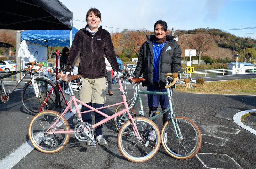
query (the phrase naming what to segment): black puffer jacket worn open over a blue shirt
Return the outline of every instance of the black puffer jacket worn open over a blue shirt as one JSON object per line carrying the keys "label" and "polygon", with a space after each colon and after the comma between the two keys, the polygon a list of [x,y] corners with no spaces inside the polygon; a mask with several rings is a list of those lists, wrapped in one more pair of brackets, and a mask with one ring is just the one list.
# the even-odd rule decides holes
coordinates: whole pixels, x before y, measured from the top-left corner
{"label": "black puffer jacket worn open over a blue shirt", "polygon": [[[142,44],[139,51],[137,67],[134,71],[135,78],[139,78],[143,73],[145,81],[142,86],[153,85],[153,39],[155,35],[147,35],[147,41]],[[166,44],[162,49],[159,61],[159,86],[165,85],[164,77],[166,73],[177,73],[181,71],[181,49],[173,36],[166,35]]]}

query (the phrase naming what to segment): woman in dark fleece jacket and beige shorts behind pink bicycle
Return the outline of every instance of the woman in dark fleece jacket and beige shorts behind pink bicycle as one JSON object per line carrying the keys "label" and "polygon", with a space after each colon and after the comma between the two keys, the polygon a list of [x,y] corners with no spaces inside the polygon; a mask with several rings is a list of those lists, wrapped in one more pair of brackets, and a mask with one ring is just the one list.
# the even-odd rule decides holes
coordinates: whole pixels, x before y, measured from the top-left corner
{"label": "woman in dark fleece jacket and beige shorts behind pink bicycle", "polygon": [[[87,25],[79,30],[74,37],[73,44],[70,48],[68,62],[65,67],[65,78],[73,75],[73,68],[79,58],[78,74],[82,75],[84,85],[79,90],[79,100],[94,108],[101,108],[106,104],[106,77],[107,71],[105,66],[104,54],[110,62],[115,74],[120,71],[114,45],[110,33],[102,27],[98,27],[101,22],[101,13],[96,8],[91,8],[86,13]],[[64,74],[63,74],[64,75]],[[62,76],[63,76],[62,75]],[[82,105],[81,112],[90,110]],[[104,113],[104,109],[99,111]],[[100,122],[105,117],[99,113],[95,113],[95,123]],[[91,112],[83,113],[82,120],[92,125]],[[96,141],[100,145],[107,144],[102,135],[103,125],[96,128]],[[94,139],[94,135],[92,136]],[[91,140],[86,144],[90,145]]]}

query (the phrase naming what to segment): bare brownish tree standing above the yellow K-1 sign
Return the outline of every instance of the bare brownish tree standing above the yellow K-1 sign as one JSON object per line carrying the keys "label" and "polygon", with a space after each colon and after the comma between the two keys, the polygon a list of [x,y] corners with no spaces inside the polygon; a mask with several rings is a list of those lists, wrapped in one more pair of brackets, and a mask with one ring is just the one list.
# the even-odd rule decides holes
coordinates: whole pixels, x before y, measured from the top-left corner
{"label": "bare brownish tree standing above the yellow K-1 sign", "polygon": [[191,49],[196,49],[196,56],[198,58],[198,65],[200,64],[203,53],[210,49],[210,43],[213,41],[211,35],[196,34],[187,37],[187,44]]}

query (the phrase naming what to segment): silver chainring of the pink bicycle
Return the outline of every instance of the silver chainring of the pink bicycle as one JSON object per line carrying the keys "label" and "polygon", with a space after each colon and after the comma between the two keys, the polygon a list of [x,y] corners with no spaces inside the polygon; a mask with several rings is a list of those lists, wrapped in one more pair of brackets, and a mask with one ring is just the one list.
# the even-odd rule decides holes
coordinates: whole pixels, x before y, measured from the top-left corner
{"label": "silver chainring of the pink bicycle", "polygon": [[[86,131],[87,130],[87,131]],[[74,134],[76,139],[79,141],[89,141],[90,139],[86,136],[86,134],[90,135],[91,137],[94,134],[93,128],[90,123],[87,122],[79,122],[75,125]]]}

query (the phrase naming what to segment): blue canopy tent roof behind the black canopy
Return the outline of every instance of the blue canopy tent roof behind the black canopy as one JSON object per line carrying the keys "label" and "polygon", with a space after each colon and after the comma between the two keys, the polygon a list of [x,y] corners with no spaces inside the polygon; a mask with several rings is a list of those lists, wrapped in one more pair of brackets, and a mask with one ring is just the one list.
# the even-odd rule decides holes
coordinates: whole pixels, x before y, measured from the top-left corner
{"label": "blue canopy tent roof behind the black canopy", "polygon": [[[72,41],[78,29],[72,29]],[[25,30],[21,32],[21,41],[26,40],[30,43],[42,46],[71,46],[70,30]]]}

